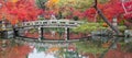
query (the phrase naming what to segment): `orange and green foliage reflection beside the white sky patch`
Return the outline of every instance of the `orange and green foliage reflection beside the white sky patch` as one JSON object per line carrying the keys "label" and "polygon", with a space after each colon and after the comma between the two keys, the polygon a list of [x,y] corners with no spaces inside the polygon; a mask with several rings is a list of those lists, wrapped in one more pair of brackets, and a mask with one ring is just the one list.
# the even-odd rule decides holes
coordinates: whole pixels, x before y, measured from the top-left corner
{"label": "orange and green foliage reflection beside the white sky patch", "polygon": [[[59,44],[59,43],[58,43]],[[73,44],[69,44],[68,46],[56,46],[56,44],[52,44],[53,46],[47,46],[47,47],[41,47],[41,46],[35,46],[37,51],[44,51],[44,53],[55,53],[54,56],[56,58],[78,58],[77,51],[69,50],[69,46]],[[55,45],[55,46],[54,46]],[[63,45],[63,44],[62,44]],[[73,46],[70,46],[73,47]],[[76,47],[73,47],[76,48]]]}

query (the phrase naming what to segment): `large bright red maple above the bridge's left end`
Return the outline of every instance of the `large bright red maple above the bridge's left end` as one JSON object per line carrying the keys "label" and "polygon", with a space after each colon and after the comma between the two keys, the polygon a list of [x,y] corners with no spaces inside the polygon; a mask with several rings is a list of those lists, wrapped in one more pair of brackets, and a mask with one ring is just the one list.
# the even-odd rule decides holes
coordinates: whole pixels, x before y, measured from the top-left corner
{"label": "large bright red maple above the bridge's left end", "polygon": [[41,14],[41,10],[35,7],[34,0],[10,0],[2,1],[2,15],[9,20],[12,24],[19,21],[34,21],[37,20],[37,15]]}

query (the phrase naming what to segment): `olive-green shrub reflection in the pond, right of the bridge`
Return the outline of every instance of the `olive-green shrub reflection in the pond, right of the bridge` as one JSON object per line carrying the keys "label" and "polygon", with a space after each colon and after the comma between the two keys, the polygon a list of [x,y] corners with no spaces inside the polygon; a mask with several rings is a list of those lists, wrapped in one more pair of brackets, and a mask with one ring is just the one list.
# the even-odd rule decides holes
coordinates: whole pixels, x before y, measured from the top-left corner
{"label": "olive-green shrub reflection in the pond, right of the bridge", "polygon": [[78,42],[76,46],[79,53],[99,54],[107,49],[101,47],[101,42]]}

